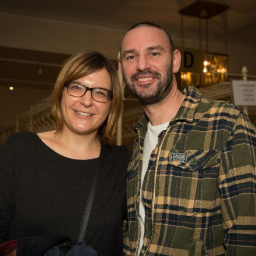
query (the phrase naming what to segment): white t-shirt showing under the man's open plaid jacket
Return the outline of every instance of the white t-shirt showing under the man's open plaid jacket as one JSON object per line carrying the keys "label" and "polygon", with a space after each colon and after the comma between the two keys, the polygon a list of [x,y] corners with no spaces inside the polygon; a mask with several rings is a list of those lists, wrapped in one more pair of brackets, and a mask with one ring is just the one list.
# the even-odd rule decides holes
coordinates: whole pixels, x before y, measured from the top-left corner
{"label": "white t-shirt showing under the man's open plaid jacket", "polygon": [[[142,187],[145,173],[148,169],[148,162],[150,161],[150,155],[151,152],[155,149],[155,146],[158,143],[158,135],[161,133],[161,131],[166,130],[169,125],[169,122],[163,123],[162,125],[158,126],[152,126],[150,122],[148,122],[148,130],[145,135],[144,139],[144,147],[143,147],[143,164],[142,164],[142,171],[141,171],[141,183],[140,188]],[[141,198],[140,193],[140,208],[139,208],[139,220],[140,220],[140,226],[141,226],[141,234],[140,234],[140,248],[139,248],[139,254],[141,251],[141,248],[143,246],[143,237],[144,237],[144,230],[145,230],[145,209]]]}

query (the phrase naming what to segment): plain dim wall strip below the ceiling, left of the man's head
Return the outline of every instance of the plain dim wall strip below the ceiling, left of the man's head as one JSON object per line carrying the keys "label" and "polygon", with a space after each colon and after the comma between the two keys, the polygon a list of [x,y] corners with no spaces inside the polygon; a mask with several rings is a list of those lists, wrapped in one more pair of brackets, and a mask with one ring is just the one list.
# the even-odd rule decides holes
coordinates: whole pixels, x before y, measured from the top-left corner
{"label": "plain dim wall strip below the ceiling, left of the man's head", "polygon": [[73,54],[91,49],[116,59],[125,31],[0,12],[0,45]]}

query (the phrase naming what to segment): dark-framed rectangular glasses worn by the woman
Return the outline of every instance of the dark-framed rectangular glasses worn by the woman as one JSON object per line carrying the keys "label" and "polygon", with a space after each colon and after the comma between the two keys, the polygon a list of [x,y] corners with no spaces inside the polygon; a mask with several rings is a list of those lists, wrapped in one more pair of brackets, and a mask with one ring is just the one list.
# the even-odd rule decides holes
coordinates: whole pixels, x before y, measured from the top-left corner
{"label": "dark-framed rectangular glasses worn by the woman", "polygon": [[91,91],[91,97],[93,97],[94,101],[98,102],[107,102],[113,95],[112,91],[108,89],[100,87],[90,88],[77,81],[66,82],[65,86],[67,87],[67,94],[73,97],[83,97],[87,91]]}

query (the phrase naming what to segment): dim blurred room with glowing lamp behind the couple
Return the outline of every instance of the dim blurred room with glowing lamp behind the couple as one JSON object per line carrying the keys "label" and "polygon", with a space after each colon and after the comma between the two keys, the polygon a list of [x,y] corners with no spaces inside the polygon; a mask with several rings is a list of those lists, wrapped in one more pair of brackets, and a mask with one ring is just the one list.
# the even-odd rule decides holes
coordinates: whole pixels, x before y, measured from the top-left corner
{"label": "dim blurred room with glowing lamp behind the couple", "polygon": [[[90,49],[111,58],[118,69],[125,31],[143,21],[169,31],[182,52],[180,89],[194,85],[205,97],[233,103],[232,81],[256,80],[255,0],[2,0],[0,146],[18,131],[54,129],[50,95],[66,58]],[[123,90],[114,143],[131,146],[132,127],[143,109],[124,85]],[[240,108],[255,125],[252,101]]]}

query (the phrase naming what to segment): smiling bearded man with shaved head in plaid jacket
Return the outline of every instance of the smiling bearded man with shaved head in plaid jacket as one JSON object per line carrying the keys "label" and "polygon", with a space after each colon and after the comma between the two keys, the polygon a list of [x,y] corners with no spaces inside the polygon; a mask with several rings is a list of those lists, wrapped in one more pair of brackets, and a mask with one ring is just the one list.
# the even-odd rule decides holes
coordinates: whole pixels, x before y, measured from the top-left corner
{"label": "smiling bearded man with shaved head in plaid jacket", "polygon": [[127,31],[119,66],[145,111],[123,254],[256,255],[255,127],[231,104],[178,90],[180,52],[156,24]]}

